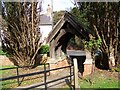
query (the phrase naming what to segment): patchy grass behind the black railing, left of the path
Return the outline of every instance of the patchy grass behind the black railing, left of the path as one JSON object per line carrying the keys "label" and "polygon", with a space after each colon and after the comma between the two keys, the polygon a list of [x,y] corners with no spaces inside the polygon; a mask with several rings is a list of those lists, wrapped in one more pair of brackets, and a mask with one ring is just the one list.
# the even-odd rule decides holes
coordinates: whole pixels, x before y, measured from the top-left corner
{"label": "patchy grass behind the black railing, left of the path", "polygon": [[[13,67],[13,66],[4,66],[4,67],[0,67],[0,68],[11,68],[11,67]],[[48,65],[47,65],[47,67],[48,67]],[[27,73],[33,73],[33,72],[39,72],[39,71],[43,71],[43,65],[38,66],[34,69],[27,69],[27,70],[19,68],[20,75],[27,74]],[[17,75],[16,69],[0,71],[0,78],[16,76],[16,75]],[[19,78],[20,83],[21,83],[20,86],[28,86],[31,84],[36,84],[38,82],[43,82],[42,77],[43,77],[43,74]],[[6,90],[7,88],[16,88],[16,87],[18,87],[17,79],[6,80],[6,81],[0,82],[0,89],[2,89],[2,90]]]}

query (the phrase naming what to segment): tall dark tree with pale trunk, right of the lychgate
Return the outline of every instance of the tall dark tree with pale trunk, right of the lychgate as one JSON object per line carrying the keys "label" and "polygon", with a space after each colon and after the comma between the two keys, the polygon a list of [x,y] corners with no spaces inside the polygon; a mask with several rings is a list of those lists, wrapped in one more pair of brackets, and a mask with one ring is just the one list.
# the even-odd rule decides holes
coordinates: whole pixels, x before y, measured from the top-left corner
{"label": "tall dark tree with pale trunk, right of the lychgate", "polygon": [[80,4],[79,10],[82,17],[89,22],[88,26],[94,32],[95,39],[101,38],[102,40],[100,49],[104,56],[102,60],[104,68],[112,68],[116,65],[118,52],[119,3],[84,2]]}

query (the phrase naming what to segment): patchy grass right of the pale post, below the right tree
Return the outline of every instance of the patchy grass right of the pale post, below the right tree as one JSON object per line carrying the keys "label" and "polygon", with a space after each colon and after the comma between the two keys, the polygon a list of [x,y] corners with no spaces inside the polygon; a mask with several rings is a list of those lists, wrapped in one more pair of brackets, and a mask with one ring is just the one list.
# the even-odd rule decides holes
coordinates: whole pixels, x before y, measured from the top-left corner
{"label": "patchy grass right of the pale post, below the right tree", "polygon": [[84,79],[79,79],[79,85],[81,88],[120,88],[118,74],[118,72],[96,70],[93,74],[85,76]]}

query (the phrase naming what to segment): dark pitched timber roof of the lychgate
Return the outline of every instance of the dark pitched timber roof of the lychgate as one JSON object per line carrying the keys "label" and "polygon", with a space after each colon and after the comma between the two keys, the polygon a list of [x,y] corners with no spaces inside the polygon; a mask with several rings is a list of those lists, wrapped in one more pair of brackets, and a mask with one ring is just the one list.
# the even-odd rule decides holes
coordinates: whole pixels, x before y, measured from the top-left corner
{"label": "dark pitched timber roof of the lychgate", "polygon": [[[82,39],[89,40],[90,30],[80,23],[72,14],[65,12],[62,18],[53,27],[53,30],[49,33],[47,42],[52,41],[56,36],[59,36],[59,32],[62,29],[69,29],[67,32],[75,32],[77,36]],[[70,29],[72,28],[72,29]]]}

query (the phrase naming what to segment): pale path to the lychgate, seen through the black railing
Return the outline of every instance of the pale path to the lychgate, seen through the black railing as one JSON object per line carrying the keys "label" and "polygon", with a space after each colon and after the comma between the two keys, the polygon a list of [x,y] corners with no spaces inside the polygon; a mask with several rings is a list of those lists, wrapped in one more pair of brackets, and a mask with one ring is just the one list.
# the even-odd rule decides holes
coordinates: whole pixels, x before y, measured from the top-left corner
{"label": "pale path to the lychgate, seen through the black railing", "polygon": [[[73,67],[72,67],[72,74],[73,74]],[[54,74],[51,73],[50,75],[47,75],[47,82],[58,79],[58,78],[62,78],[62,77],[68,76],[68,75],[70,75],[70,69],[69,68],[62,69],[62,70],[57,70]],[[44,81],[44,78],[42,78],[42,79]],[[73,77],[71,79],[73,80]],[[41,84],[41,83],[38,83],[38,84]],[[33,85],[38,85],[38,84],[33,84]],[[25,87],[18,87],[18,88],[25,89],[25,88],[32,87],[33,85],[25,86]],[[52,88],[65,88],[64,87],[65,85],[70,85],[70,77],[65,78],[65,79],[61,79],[61,80],[57,80],[55,82],[47,84],[47,89],[49,90],[49,89],[52,89]],[[36,87],[36,88],[44,89],[45,85],[42,85],[42,86],[39,86],[39,87]]]}

